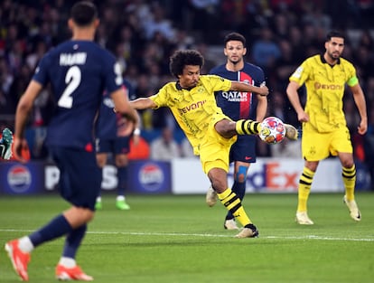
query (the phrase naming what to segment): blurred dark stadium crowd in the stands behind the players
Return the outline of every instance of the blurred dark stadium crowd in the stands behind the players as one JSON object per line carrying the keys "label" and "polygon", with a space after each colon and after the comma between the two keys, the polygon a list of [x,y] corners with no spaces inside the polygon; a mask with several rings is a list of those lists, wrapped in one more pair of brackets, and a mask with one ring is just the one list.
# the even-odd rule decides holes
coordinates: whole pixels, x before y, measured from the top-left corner
{"label": "blurred dark stadium crowd in the stands behind the players", "polygon": [[[0,127],[14,128],[18,99],[42,54],[69,39],[70,0],[3,0],[0,4]],[[371,0],[102,0],[97,42],[113,52],[136,97],[154,94],[169,74],[169,56],[193,48],[205,57],[202,73],[222,63],[223,37],[236,31],[248,40],[247,60],[261,66],[271,90],[269,115],[299,126],[285,95],[292,71],[306,57],[324,51],[324,35],[348,35],[343,57],[358,70],[368,102],[369,133],[358,136],[359,116],[345,99],[356,158],[373,168],[374,160],[374,1]],[[303,95],[301,93],[301,95]],[[134,98],[131,98],[134,99]],[[48,124],[51,98],[37,100],[30,127]],[[168,110],[142,113],[145,129],[177,128]],[[42,132],[42,131],[41,131]],[[40,137],[43,137],[40,134]],[[271,156],[268,146],[258,156]],[[35,154],[35,158],[38,156]],[[372,170],[372,169],[371,169]]]}

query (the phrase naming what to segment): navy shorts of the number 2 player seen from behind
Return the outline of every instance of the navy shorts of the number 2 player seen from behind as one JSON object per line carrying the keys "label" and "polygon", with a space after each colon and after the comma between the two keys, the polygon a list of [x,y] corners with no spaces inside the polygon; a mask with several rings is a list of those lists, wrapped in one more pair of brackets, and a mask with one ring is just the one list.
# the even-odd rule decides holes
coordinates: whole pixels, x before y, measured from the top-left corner
{"label": "navy shorts of the number 2 player seen from behind", "polygon": [[51,146],[50,152],[60,170],[62,198],[74,206],[94,211],[102,180],[95,152],[61,146]]}

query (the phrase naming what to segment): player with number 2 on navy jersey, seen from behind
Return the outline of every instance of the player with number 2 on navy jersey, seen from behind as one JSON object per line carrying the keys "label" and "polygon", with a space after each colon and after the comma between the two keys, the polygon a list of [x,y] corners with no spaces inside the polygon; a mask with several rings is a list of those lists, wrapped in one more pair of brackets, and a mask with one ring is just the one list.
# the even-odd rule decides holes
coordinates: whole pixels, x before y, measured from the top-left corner
{"label": "player with number 2 on navy jersey, seen from behind", "polygon": [[93,42],[98,27],[96,6],[88,1],[73,5],[69,27],[71,40],[43,56],[15,113],[14,155],[22,159],[27,117],[43,87],[51,84],[56,103],[46,142],[60,169],[61,196],[71,204],[39,230],[5,244],[14,270],[24,281],[29,279],[27,266],[32,250],[61,236],[66,236],[66,240],[55,269],[56,278],[93,279],[79,268],[75,257],[88,222],[94,217],[100,191],[102,176],[93,147],[93,126],[103,91],[111,94],[119,113],[137,123],[136,112],[122,88],[119,64],[112,54]]}

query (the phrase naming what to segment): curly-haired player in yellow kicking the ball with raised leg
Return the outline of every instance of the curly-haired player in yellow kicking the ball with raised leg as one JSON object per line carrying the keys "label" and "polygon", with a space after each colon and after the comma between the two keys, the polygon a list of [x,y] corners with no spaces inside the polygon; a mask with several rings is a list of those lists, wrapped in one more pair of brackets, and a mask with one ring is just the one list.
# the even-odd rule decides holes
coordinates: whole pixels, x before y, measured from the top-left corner
{"label": "curly-haired player in yellow kicking the ball with raised leg", "polygon": [[[150,98],[131,101],[136,109],[168,107],[172,110],[183,132],[199,155],[201,165],[218,193],[220,202],[244,227],[238,238],[257,237],[256,226],[250,221],[240,199],[229,189],[229,149],[237,135],[257,135],[260,123],[253,120],[231,120],[217,107],[214,91],[238,90],[256,92],[266,96],[266,86],[255,87],[245,82],[231,81],[215,75],[201,75],[203,57],[200,52],[184,50],[174,52],[170,71],[177,81],[169,82]],[[289,136],[297,136],[295,127],[288,127]]]}

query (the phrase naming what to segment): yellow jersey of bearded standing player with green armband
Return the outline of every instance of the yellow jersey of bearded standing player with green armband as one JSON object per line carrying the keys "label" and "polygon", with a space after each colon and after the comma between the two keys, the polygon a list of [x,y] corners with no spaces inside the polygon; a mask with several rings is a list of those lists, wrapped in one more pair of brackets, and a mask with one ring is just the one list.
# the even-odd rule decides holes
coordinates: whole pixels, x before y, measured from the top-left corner
{"label": "yellow jersey of bearded standing player with green armband", "polygon": [[305,113],[310,124],[321,133],[346,127],[343,112],[345,84],[355,86],[359,83],[356,70],[351,62],[340,58],[334,66],[328,64],[323,55],[306,59],[291,75],[290,81],[300,86],[305,84]]}

